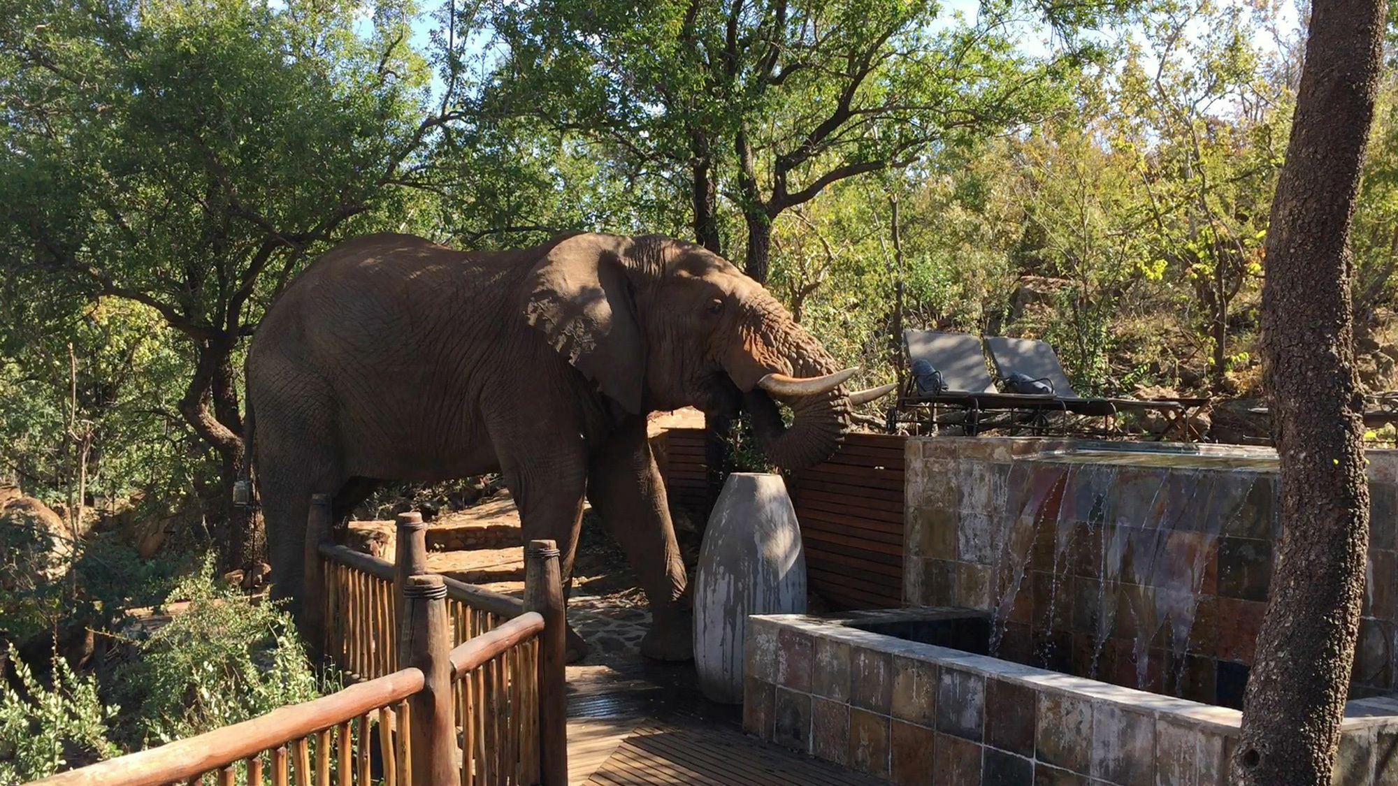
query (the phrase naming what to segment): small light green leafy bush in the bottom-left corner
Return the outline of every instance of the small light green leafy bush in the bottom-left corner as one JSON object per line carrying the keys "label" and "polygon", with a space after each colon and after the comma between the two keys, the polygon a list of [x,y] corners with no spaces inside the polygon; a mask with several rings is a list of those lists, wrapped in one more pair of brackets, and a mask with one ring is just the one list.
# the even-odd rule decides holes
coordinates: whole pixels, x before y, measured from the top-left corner
{"label": "small light green leafy bush in the bottom-left corner", "polygon": [[103,705],[96,681],[53,657],[45,685],[10,645],[14,683],[0,683],[0,783],[48,778],[60,769],[116,755],[108,740],[120,708]]}

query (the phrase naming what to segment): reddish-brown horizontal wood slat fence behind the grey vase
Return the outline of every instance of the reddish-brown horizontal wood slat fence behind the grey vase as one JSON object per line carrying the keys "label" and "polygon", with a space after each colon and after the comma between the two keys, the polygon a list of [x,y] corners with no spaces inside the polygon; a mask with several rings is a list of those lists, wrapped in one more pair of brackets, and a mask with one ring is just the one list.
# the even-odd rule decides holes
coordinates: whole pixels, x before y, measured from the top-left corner
{"label": "reddish-brown horizontal wood slat fence behind the grey vase", "polygon": [[[707,509],[703,429],[654,438],[672,501]],[[905,436],[849,434],[823,464],[788,476],[811,589],[837,608],[891,608],[903,601]]]}

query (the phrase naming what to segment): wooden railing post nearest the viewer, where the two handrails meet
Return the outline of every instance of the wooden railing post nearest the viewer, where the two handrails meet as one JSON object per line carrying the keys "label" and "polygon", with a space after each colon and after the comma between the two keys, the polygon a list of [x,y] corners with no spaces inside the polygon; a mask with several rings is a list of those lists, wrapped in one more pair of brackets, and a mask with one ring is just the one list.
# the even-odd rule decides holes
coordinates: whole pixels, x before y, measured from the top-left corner
{"label": "wooden railing post nearest the viewer, where the two handrails meet", "polygon": [[414,786],[452,786],[456,769],[456,719],[452,716],[452,631],[442,576],[408,576],[398,627],[400,667],[421,669],[422,689],[408,696],[408,741]]}

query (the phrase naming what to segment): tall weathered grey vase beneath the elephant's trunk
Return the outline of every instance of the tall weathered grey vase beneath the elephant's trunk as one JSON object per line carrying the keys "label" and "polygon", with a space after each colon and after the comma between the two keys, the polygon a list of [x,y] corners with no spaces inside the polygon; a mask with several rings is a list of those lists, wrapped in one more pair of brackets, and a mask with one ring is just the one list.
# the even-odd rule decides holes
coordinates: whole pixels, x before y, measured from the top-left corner
{"label": "tall weathered grey vase beneath the elephant's trunk", "polygon": [[748,614],[805,611],[805,552],[781,476],[733,473],[723,484],[699,551],[693,610],[699,689],[741,703]]}

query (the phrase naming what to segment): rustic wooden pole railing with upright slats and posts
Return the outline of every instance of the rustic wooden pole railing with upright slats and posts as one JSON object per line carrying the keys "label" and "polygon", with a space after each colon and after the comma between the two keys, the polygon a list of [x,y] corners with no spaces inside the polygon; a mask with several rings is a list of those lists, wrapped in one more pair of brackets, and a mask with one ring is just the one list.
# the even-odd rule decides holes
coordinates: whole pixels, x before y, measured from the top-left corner
{"label": "rustic wooden pole railing with upright slats and posts", "polygon": [[554,541],[530,543],[517,600],[428,573],[417,513],[398,516],[393,564],[329,543],[326,495],[312,499],[308,524],[298,622],[312,650],[355,684],[31,786],[566,785]]}

